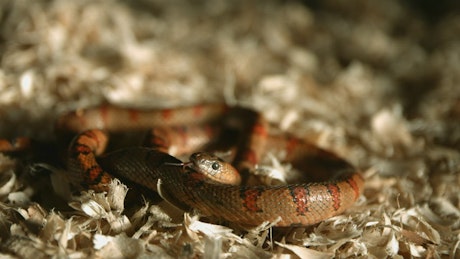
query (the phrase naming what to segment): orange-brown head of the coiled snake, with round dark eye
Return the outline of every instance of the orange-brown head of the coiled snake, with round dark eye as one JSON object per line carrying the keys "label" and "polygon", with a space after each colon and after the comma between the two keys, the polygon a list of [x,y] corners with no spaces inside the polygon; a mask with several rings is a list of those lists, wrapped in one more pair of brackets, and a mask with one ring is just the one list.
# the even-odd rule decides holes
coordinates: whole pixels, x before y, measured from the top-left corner
{"label": "orange-brown head of the coiled snake, with round dark eye", "polygon": [[187,165],[196,172],[205,175],[209,180],[219,183],[239,185],[241,177],[238,171],[220,157],[198,152],[190,156]]}

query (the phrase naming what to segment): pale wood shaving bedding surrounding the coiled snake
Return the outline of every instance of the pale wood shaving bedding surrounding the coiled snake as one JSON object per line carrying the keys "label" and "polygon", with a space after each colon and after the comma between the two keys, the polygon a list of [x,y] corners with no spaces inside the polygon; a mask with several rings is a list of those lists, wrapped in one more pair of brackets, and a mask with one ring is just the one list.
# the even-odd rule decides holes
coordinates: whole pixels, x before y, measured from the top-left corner
{"label": "pale wood shaving bedding surrounding the coiled snake", "polygon": [[120,182],[69,200],[64,168],[0,154],[1,255],[458,257],[458,5],[313,2],[1,1],[0,137],[53,143],[59,114],[105,102],[227,102],[366,179],[343,215],[247,229],[147,200],[128,210]]}

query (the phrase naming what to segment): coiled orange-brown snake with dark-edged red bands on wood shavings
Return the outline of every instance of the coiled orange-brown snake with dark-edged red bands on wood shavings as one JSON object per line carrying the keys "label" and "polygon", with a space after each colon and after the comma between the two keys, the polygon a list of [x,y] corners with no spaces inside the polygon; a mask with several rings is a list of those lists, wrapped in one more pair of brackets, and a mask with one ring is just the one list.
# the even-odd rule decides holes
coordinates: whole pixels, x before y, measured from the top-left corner
{"label": "coiled orange-brown snake with dark-edged red bands on wood shavings", "polygon": [[[67,167],[69,179],[81,188],[102,192],[114,178],[126,179],[158,192],[180,209],[242,225],[313,225],[353,206],[364,186],[361,173],[345,159],[273,130],[250,108],[103,105],[64,114],[56,131],[73,136]],[[129,131],[148,134],[141,146],[106,152],[113,134]],[[215,155],[219,152],[230,153],[231,161]],[[251,182],[251,173],[270,154],[304,178],[273,185]]]}

